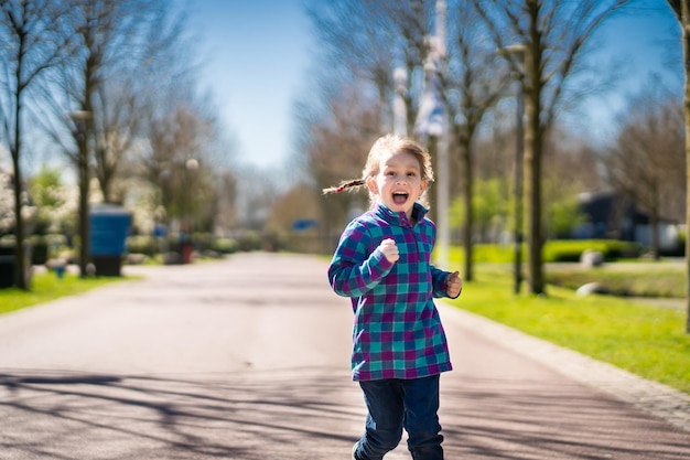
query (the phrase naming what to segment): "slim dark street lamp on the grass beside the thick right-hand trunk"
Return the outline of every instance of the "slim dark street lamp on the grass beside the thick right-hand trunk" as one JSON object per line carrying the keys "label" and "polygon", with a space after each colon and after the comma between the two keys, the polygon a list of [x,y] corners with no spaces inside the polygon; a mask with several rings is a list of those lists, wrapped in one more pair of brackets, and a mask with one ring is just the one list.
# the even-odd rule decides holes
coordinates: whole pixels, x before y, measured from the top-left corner
{"label": "slim dark street lamp on the grass beside the thick right-hand trunk", "polygon": [[[515,260],[514,284],[515,293],[520,293],[522,281],[522,157],[525,151],[525,55],[527,47],[522,44],[508,45],[498,51],[498,54],[508,58],[513,67],[511,74],[516,76],[517,90],[516,120],[515,120]],[[515,57],[515,60],[514,60]]]}

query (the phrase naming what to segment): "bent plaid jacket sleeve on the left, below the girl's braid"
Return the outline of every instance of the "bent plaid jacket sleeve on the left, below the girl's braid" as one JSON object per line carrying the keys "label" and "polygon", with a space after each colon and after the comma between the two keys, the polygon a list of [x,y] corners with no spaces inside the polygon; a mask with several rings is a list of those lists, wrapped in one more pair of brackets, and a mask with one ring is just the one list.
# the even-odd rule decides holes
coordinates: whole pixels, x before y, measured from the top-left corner
{"label": "bent plaid jacket sleeve on the left, below the girl's braid", "polygon": [[370,250],[374,243],[362,223],[353,221],[345,228],[328,267],[328,281],[335,293],[364,296],[390,272],[393,264],[378,245]]}

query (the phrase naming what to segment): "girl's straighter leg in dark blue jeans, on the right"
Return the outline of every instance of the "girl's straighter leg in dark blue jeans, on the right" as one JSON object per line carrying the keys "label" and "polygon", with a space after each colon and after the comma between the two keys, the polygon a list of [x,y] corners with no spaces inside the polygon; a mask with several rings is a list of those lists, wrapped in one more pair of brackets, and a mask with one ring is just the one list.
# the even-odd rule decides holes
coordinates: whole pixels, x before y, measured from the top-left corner
{"label": "girl's straighter leg in dark blue jeans, on the right", "polygon": [[439,376],[403,381],[405,429],[414,460],[443,460],[439,424]]}

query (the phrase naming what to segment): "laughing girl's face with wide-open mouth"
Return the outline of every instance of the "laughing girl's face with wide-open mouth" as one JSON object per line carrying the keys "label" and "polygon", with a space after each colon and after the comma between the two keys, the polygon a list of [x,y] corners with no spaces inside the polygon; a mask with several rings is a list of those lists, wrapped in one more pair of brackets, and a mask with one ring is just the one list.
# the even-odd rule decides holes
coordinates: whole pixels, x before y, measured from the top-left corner
{"label": "laughing girl's face with wide-open mouth", "polygon": [[427,189],[417,157],[408,152],[386,153],[378,164],[378,173],[367,180],[369,192],[379,203],[393,212],[412,218],[414,202]]}

